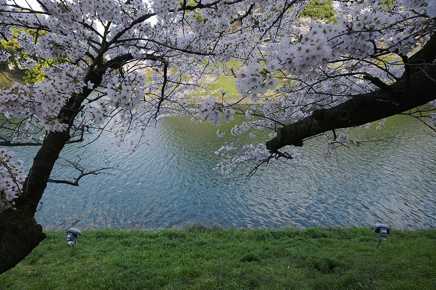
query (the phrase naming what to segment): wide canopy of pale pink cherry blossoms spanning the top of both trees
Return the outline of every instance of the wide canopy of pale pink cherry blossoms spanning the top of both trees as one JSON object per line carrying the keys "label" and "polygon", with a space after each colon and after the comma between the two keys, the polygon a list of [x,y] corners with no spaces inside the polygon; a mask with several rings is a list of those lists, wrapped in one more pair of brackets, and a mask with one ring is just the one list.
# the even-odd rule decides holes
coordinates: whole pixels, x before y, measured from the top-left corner
{"label": "wide canopy of pale pink cherry blossoms spanning the top of both trees", "polygon": [[[434,30],[435,2],[398,0],[382,7],[370,0],[358,5],[341,1],[336,3],[336,23],[306,23],[299,12],[308,1],[41,0],[41,7],[29,10],[0,0],[2,37],[12,37],[11,27],[37,29],[35,35],[23,30],[17,36],[31,56],[23,67],[40,59],[66,62],[47,67],[45,80],[34,86],[15,84],[3,90],[0,110],[6,118],[27,119],[23,125],[28,130],[43,125],[62,131],[71,120],[62,119],[60,112],[74,99],[80,103],[76,121],[83,117],[100,133],[112,131],[114,143],[121,144],[133,130],[143,132],[170,116],[190,115],[216,126],[232,121],[235,110],[224,101],[207,97],[201,105],[187,103],[187,92],[202,76],[227,73],[237,76],[238,104],[258,102],[244,108],[247,121],[231,129],[235,136],[249,134],[248,142],[254,143],[261,135],[255,130],[269,129],[274,138],[277,128],[314,110],[376,89],[363,76],[394,82],[404,64],[383,58],[401,59],[425,42]],[[100,81],[96,70],[126,55],[131,58],[107,69]],[[9,57],[0,50],[0,61]],[[228,63],[232,59],[234,67]],[[283,80],[280,86],[278,78]],[[436,122],[434,117],[430,122]],[[346,134],[329,139],[324,155],[353,142]],[[234,153],[223,156],[226,175],[238,164],[270,154],[264,145],[233,147],[220,151]],[[286,150],[301,160],[300,151]]]}

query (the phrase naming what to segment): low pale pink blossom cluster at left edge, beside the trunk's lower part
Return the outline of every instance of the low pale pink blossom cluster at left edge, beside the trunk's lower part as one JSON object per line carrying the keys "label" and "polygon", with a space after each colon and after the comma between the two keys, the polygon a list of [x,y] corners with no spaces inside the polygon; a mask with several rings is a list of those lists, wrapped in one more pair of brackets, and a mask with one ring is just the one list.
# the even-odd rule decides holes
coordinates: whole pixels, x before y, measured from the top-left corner
{"label": "low pale pink blossom cluster at left edge, beside the trunk's lower part", "polygon": [[26,179],[22,167],[23,161],[14,162],[15,153],[0,148],[0,213],[7,209],[15,209],[14,199],[23,189]]}

